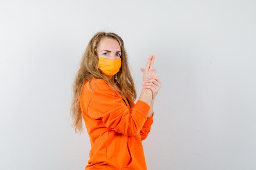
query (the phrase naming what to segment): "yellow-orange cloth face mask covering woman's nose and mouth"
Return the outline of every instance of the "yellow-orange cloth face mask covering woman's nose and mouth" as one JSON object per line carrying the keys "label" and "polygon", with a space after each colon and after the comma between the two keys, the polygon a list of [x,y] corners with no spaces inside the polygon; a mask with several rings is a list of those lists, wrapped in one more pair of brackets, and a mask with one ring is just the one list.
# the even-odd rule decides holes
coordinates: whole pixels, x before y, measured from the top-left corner
{"label": "yellow-orange cloth face mask covering woman's nose and mouth", "polygon": [[111,78],[113,75],[119,72],[121,68],[121,58],[114,60],[99,57],[98,68],[102,71],[104,75],[106,75],[108,78]]}

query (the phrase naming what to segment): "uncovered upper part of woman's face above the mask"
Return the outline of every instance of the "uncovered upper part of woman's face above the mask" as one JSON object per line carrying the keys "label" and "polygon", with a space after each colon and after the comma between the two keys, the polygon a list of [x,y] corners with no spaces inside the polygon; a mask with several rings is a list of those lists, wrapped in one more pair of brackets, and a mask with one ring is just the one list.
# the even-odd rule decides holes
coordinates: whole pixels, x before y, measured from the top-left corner
{"label": "uncovered upper part of woman's face above the mask", "polygon": [[97,47],[97,56],[109,59],[119,59],[121,49],[117,40],[112,38],[102,38]]}

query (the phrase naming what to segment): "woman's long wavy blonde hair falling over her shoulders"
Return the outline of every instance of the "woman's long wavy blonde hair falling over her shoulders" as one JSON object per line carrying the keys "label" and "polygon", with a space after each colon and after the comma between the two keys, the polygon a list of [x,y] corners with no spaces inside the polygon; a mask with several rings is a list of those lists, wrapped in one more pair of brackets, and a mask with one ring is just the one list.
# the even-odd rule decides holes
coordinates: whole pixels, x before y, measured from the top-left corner
{"label": "woman's long wavy blonde hair falling over her shoulders", "polygon": [[[114,75],[114,78],[117,80],[119,84],[119,88],[115,83],[113,83],[108,77],[103,75],[101,71],[98,69],[98,61],[97,57],[97,46],[101,40],[101,38],[112,38],[119,42],[121,48],[121,68],[120,71]],[[72,105],[71,105],[71,115],[73,117],[72,126],[75,128],[76,133],[83,132],[83,116],[80,108],[80,96],[83,89],[83,83],[85,81],[90,81],[92,79],[103,79],[110,86],[115,88],[115,90],[121,95],[123,94],[125,97],[128,97],[132,101],[136,99],[136,91],[132,76],[130,74],[127,53],[124,49],[123,40],[115,33],[107,33],[107,32],[98,32],[95,33],[92,39],[90,40],[85,52],[83,53],[80,68],[76,73],[74,83],[72,86],[73,97],[72,97]],[[86,95],[86,94],[85,94]]]}

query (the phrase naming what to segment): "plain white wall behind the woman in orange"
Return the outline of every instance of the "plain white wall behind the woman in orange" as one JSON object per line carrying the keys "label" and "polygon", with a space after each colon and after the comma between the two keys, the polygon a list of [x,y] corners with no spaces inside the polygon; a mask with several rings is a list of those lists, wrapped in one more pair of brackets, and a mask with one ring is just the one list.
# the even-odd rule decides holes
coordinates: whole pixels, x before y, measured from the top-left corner
{"label": "plain white wall behind the woman in orange", "polygon": [[85,168],[71,86],[90,38],[112,31],[138,95],[156,55],[148,170],[255,170],[255,30],[254,0],[1,0],[0,169]]}

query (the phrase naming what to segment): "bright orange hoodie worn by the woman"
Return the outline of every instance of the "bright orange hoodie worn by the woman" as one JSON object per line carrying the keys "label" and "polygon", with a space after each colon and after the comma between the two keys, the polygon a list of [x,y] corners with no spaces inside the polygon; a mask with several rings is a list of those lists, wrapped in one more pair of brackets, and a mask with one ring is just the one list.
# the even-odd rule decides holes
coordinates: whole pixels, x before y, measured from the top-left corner
{"label": "bright orange hoodie worn by the woman", "polygon": [[[85,170],[147,170],[142,140],[153,124],[150,106],[125,101],[102,79],[83,84],[80,98],[91,150]],[[131,107],[131,108],[130,108]]]}

